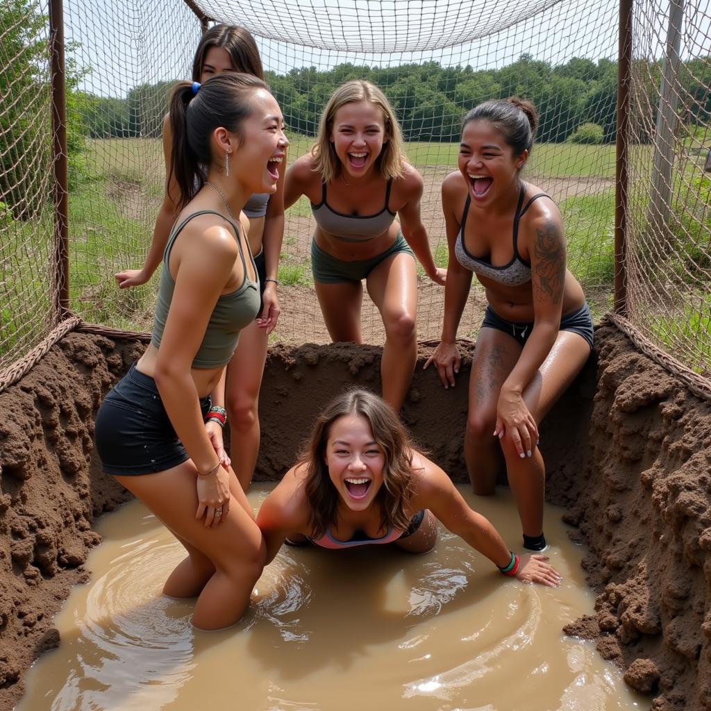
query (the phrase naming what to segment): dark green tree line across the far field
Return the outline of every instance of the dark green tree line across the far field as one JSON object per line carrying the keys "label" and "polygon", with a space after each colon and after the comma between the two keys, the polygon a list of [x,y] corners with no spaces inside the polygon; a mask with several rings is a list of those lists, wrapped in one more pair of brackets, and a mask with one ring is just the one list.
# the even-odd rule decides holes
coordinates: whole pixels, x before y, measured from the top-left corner
{"label": "dark green tree line across the far field", "polygon": [[[638,139],[654,126],[661,63],[638,67],[643,97],[636,106],[648,114],[639,117]],[[643,70],[643,71],[642,71]],[[491,98],[519,96],[532,100],[540,112],[538,141],[560,142],[576,137],[584,124],[585,136],[614,142],[616,132],[617,63],[572,58],[565,64],[535,60],[528,54],[496,70],[474,70],[471,66],[443,67],[437,62],[403,64],[395,67],[367,67],[351,63],[330,70],[315,67],[292,69],[278,75],[267,73],[267,83],[282,107],[289,129],[313,137],[331,92],[351,79],[368,79],[378,85],[400,119],[408,141],[456,141],[464,113]],[[699,58],[680,68],[685,123],[705,123],[711,117],[710,58]],[[173,82],[143,84],[129,91],[125,99],[82,95],[83,121],[87,135],[94,138],[157,137],[166,113]],[[641,100],[640,100],[641,99]]]}

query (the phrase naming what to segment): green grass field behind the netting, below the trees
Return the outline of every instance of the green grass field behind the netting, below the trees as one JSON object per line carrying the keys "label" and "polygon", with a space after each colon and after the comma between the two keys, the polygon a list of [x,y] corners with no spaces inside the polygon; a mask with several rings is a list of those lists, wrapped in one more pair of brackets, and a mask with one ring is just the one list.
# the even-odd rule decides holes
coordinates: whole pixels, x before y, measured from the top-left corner
{"label": "green grass field behind the netting, below the trees", "polygon": [[[289,161],[303,155],[311,139],[290,137]],[[447,264],[442,215],[439,208],[439,183],[449,171],[456,169],[458,144],[412,142],[406,150],[410,161],[425,178],[423,215],[432,238],[432,250],[439,266]],[[637,174],[651,165],[651,146],[634,147]],[[159,139],[109,139],[87,142],[83,158],[88,178],[70,193],[70,258],[72,308],[83,318],[122,328],[137,328],[149,322],[153,308],[156,279],[139,289],[117,289],[113,274],[127,267],[141,266],[151,240],[153,223],[164,190],[164,164]],[[596,315],[609,307],[613,280],[614,231],[614,146],[580,146],[572,144],[540,144],[535,146],[528,164],[528,174],[556,196],[564,215],[568,242],[568,263],[571,271],[592,296]],[[694,169],[684,163],[686,176]],[[682,177],[683,177],[682,176]],[[675,205],[683,235],[690,242],[693,260],[708,253],[709,226],[707,205],[710,202],[708,178],[693,178],[696,202],[690,205],[688,195],[678,198]],[[698,189],[697,189],[698,188]],[[557,193],[555,192],[557,191]],[[683,205],[681,204],[683,203]],[[690,212],[687,214],[685,210]],[[430,224],[431,222],[431,224]],[[311,210],[301,198],[287,212],[287,230],[279,277],[284,285],[311,284],[308,250]],[[18,225],[18,230],[26,230]],[[706,250],[704,252],[704,250]],[[689,251],[689,250],[688,250]],[[700,258],[700,257],[699,257]],[[670,262],[667,271],[680,272]],[[28,272],[32,272],[28,260]],[[21,267],[23,269],[23,267]],[[34,283],[38,275],[33,273]],[[660,277],[663,278],[663,274]],[[685,314],[684,309],[679,310]],[[693,314],[690,328],[705,327]],[[7,338],[12,314],[4,309],[0,328]],[[667,331],[663,323],[656,324],[659,333]],[[13,333],[17,338],[20,334]],[[11,338],[11,340],[14,340]],[[2,341],[3,338],[0,338]],[[6,344],[5,344],[6,345]],[[6,350],[6,348],[3,348]]]}

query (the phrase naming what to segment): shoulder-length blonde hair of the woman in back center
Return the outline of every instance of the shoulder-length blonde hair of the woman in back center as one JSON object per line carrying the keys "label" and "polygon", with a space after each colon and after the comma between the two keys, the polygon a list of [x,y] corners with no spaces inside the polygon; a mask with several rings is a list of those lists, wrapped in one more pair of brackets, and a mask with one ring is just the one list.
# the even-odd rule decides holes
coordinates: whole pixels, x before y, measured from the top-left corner
{"label": "shoulder-length blonde hair of the woman in back center", "polygon": [[402,131],[397,117],[395,117],[395,111],[390,106],[385,94],[375,84],[355,79],[341,85],[331,94],[324,113],[321,114],[319,135],[311,148],[311,155],[314,156],[314,171],[321,175],[321,181],[324,183],[330,183],[338,178],[343,169],[331,141],[336,112],[346,104],[358,101],[367,101],[383,112],[387,143],[383,144],[383,150],[375,159],[375,165],[380,174],[389,180],[390,178],[401,178],[405,173],[405,141],[402,140]]}

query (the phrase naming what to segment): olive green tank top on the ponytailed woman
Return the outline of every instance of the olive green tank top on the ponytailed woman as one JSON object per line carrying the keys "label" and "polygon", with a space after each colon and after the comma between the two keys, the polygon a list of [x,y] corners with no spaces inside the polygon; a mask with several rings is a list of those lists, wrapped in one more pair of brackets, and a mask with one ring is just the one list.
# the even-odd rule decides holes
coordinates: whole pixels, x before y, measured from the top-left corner
{"label": "olive green tank top on the ponytailed woman", "polygon": [[[183,230],[190,220],[198,215],[218,215],[223,220],[229,222],[232,227],[235,227],[225,215],[214,212],[213,210],[200,210],[199,212],[191,213],[179,225],[177,222],[173,225],[168,244],[163,254],[163,272],[161,273],[161,283],[158,288],[158,303],[156,304],[156,316],[153,334],[151,335],[151,343],[153,343],[156,348],[160,348],[161,346],[161,338],[163,337],[163,330],[166,326],[168,311],[171,306],[171,300],[173,299],[173,290],[176,285],[168,267],[171,248],[181,230]],[[252,279],[247,278],[247,263],[245,254],[242,251],[240,235],[236,228],[235,237],[237,247],[240,250],[240,258],[242,259],[242,269],[244,270],[245,278],[239,289],[235,292],[223,294],[218,298],[215,309],[213,309],[213,313],[210,315],[208,327],[205,329],[203,342],[200,344],[200,348],[193,360],[193,368],[219,368],[220,365],[228,363],[230,358],[232,358],[232,353],[234,353],[235,348],[237,348],[240,331],[252,323],[260,311],[260,284],[258,281],[253,282]],[[255,261],[252,259],[251,253],[250,262],[252,262],[254,273],[257,274]]]}

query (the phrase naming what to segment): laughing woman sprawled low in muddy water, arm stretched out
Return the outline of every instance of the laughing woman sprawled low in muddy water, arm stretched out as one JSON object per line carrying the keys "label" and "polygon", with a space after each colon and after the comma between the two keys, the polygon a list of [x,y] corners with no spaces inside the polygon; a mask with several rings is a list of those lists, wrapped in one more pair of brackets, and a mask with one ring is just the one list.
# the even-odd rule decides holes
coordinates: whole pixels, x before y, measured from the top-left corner
{"label": "laughing woman sprawled low in muddy water, arm stretched out", "polygon": [[285,540],[334,549],[395,543],[427,552],[437,542],[435,518],[504,574],[560,583],[546,556],[519,559],[508,550],[449,476],[415,449],[395,412],[366,390],[346,392],[326,407],[309,449],[262,503],[257,525],[269,562]]}

